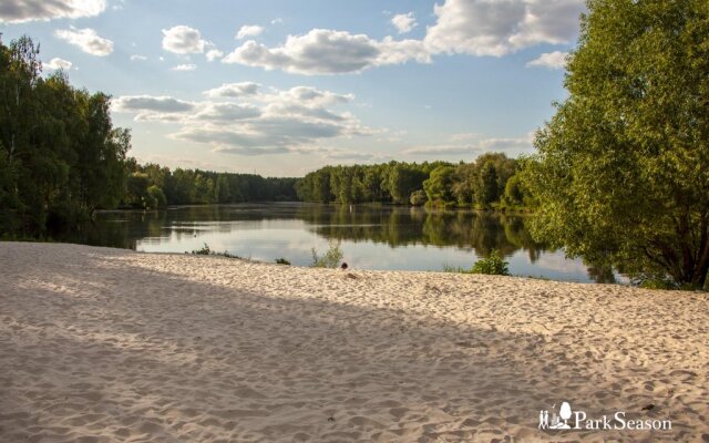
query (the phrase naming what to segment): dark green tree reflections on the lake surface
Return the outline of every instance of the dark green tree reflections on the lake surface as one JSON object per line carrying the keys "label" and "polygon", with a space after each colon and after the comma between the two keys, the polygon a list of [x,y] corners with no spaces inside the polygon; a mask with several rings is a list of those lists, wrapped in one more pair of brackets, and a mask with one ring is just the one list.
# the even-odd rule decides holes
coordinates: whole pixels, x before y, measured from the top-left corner
{"label": "dark green tree reflections on the lake surface", "polygon": [[[379,205],[350,207],[274,203],[182,206],[160,212],[97,213],[94,223],[69,233],[54,233],[54,238],[130,249],[135,249],[136,245],[144,241],[157,241],[162,245],[172,243],[174,251],[182,253],[187,250],[184,243],[193,238],[197,240],[195,237],[205,234],[228,236],[245,229],[268,229],[269,223],[297,222],[300,229],[305,226],[305,229],[325,240],[369,243],[391,248],[454,247],[471,253],[471,265],[473,255],[487,257],[493,249],[506,257],[524,251],[528,261],[535,264],[543,253],[551,251],[532,239],[525,227],[527,217],[518,214]],[[615,275],[608,266],[589,266],[588,279],[614,282]]]}

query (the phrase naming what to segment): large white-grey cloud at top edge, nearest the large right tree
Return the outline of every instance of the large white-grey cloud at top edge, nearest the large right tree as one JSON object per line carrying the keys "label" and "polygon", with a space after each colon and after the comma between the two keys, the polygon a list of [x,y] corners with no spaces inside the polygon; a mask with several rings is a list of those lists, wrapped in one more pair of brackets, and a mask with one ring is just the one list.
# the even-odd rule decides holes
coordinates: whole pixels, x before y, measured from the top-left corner
{"label": "large white-grey cloud at top edge, nearest the large right tree", "polygon": [[433,8],[432,52],[501,56],[540,43],[572,41],[583,0],[445,0]]}

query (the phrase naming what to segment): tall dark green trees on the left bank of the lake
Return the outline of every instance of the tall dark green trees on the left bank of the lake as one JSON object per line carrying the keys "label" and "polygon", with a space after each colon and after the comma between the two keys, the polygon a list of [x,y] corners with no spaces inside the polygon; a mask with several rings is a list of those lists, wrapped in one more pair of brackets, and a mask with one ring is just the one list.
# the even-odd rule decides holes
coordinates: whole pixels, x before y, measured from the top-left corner
{"label": "tall dark green trees on the left bank of the lake", "polygon": [[29,38],[0,45],[0,231],[41,234],[123,196],[130,134],[110,97],[43,79],[38,54]]}

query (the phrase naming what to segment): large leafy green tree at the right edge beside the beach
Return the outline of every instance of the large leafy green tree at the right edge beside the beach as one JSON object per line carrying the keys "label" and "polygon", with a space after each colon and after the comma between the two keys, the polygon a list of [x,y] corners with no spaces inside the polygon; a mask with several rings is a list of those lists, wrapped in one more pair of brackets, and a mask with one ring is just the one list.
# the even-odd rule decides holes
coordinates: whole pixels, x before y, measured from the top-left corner
{"label": "large leafy green tree at the right edge beside the beach", "polygon": [[590,0],[569,96],[525,172],[537,237],[702,288],[709,269],[709,2]]}

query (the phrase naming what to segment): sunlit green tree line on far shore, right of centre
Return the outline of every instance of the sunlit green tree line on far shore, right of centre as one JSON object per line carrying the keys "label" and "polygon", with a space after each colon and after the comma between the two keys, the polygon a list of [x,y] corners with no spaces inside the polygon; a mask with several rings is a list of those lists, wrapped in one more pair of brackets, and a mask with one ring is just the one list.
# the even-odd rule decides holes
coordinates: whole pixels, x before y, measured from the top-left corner
{"label": "sunlit green tree line on far shore, right of centre", "polygon": [[391,203],[434,207],[521,209],[533,205],[523,162],[485,153],[474,162],[326,166],[296,182],[298,198],[317,203]]}

